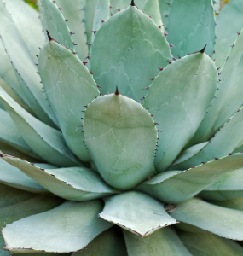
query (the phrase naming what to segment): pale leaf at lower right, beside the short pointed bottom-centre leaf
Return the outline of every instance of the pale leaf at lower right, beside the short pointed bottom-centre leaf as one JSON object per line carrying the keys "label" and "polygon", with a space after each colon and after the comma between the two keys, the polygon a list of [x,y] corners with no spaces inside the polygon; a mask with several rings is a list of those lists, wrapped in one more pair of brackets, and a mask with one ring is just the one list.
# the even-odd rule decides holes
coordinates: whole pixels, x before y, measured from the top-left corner
{"label": "pale leaf at lower right, beside the short pointed bottom-centre leaf", "polygon": [[210,231],[218,236],[243,240],[243,212],[190,199],[170,213],[176,220]]}

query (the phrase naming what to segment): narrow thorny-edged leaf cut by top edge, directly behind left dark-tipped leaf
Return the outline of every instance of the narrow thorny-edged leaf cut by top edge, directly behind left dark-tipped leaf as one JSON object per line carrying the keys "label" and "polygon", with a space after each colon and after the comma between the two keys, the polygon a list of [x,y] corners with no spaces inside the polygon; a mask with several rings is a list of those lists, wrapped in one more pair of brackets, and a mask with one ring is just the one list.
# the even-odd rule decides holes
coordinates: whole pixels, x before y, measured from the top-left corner
{"label": "narrow thorny-edged leaf cut by top edge, directly behind left dark-tipped leaf", "polygon": [[43,27],[49,32],[59,44],[63,44],[68,49],[74,51],[72,35],[67,26],[67,21],[61,14],[55,2],[51,0],[41,0],[43,12]]}

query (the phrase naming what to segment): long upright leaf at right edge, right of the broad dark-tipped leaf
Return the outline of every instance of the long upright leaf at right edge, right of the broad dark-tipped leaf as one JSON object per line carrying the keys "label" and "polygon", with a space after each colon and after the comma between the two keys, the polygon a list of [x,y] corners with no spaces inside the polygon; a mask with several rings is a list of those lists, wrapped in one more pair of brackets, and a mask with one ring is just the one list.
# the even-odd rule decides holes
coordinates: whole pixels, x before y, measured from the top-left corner
{"label": "long upright leaf at right edge, right of the broad dark-tipped leaf", "polygon": [[[237,38],[229,59],[220,71],[216,98],[205,115],[192,144],[205,142],[225,123],[242,105],[243,79],[243,32]],[[234,100],[233,100],[234,99]]]}

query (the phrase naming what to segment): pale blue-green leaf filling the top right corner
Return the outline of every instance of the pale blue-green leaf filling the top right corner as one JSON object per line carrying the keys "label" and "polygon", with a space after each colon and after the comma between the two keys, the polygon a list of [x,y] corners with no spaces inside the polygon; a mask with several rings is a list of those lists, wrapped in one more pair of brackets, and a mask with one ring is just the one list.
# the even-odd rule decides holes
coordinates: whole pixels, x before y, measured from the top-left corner
{"label": "pale blue-green leaf filling the top right corner", "polygon": [[[228,1],[229,2],[229,1]],[[230,45],[234,44],[237,32],[243,26],[243,5],[241,0],[231,0],[227,3],[217,16],[215,54],[217,67],[223,67],[224,61],[231,50]],[[234,22],[231,22],[233,21]]]}

